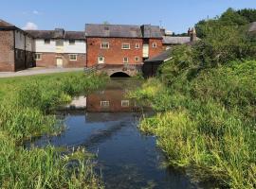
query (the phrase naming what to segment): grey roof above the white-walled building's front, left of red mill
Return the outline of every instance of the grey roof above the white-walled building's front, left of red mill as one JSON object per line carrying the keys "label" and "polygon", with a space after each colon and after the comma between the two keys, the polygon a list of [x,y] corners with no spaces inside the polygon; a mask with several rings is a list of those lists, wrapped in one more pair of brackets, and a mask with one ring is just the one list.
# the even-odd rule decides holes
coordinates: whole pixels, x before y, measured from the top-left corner
{"label": "grey roof above the white-walled building's front, left of red mill", "polygon": [[66,40],[84,40],[83,31],[64,31],[64,29],[55,30],[27,30],[36,39],[66,39]]}

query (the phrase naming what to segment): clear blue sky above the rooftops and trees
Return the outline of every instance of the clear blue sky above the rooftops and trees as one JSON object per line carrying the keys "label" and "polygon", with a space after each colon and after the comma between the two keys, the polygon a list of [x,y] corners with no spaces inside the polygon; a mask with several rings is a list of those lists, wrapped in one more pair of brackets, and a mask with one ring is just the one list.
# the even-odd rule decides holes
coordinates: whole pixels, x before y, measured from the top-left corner
{"label": "clear blue sky above the rooftops and trees", "polygon": [[256,9],[256,0],[1,0],[0,19],[19,27],[83,30],[85,23],[152,24],[175,33],[228,8]]}

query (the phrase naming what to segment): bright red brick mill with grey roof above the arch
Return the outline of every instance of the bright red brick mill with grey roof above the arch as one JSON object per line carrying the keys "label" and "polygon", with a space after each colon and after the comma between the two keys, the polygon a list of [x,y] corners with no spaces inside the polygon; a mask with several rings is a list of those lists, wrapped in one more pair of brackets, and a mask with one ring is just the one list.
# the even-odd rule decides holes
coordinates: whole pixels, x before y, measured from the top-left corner
{"label": "bright red brick mill with grey roof above the arch", "polygon": [[163,51],[159,26],[85,26],[86,66],[142,64]]}

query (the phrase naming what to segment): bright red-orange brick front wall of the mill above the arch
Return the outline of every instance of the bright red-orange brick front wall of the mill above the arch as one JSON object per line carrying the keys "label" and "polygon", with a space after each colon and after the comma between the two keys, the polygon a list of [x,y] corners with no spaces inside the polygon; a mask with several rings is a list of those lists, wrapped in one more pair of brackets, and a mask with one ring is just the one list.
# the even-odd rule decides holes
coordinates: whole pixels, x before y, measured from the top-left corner
{"label": "bright red-orange brick front wall of the mill above the arch", "polygon": [[[98,63],[98,57],[104,57],[105,64],[123,64],[123,58],[127,57],[129,63],[142,62],[142,39],[129,38],[87,38],[87,66],[93,66]],[[101,49],[101,43],[109,43],[109,49]],[[130,49],[121,49],[122,43],[130,43]],[[139,48],[136,48],[139,43]],[[135,57],[139,60],[136,61]]]}

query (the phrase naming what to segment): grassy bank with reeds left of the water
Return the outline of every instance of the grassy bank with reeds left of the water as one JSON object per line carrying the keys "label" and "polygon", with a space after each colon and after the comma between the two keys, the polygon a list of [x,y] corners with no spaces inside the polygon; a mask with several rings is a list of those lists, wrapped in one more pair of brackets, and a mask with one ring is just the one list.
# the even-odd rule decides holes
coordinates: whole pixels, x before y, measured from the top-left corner
{"label": "grassy bank with reeds left of the water", "polygon": [[[51,115],[72,96],[98,89],[106,77],[82,72],[0,79],[0,187],[100,188],[87,158],[74,161],[53,146],[20,146],[24,140],[57,134],[62,126]],[[72,160],[72,163],[70,163]]]}

